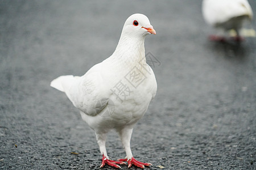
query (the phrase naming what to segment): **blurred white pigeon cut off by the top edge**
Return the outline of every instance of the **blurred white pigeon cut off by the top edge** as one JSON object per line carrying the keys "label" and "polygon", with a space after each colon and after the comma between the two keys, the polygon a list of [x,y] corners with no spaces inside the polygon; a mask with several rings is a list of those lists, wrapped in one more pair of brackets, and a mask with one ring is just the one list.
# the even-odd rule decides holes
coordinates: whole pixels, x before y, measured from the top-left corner
{"label": "blurred white pigeon cut off by the top edge", "polygon": [[253,18],[253,11],[247,0],[203,0],[202,12],[205,21],[220,30],[220,35],[210,36],[210,40],[225,41],[224,33],[236,31],[235,40],[242,40],[240,29],[245,20]]}

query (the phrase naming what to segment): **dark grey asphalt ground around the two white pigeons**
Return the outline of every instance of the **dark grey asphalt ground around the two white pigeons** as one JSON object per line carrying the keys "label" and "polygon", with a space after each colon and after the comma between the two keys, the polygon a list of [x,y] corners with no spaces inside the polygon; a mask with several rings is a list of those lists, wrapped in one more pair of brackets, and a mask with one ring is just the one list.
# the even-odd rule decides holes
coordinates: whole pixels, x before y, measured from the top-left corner
{"label": "dark grey asphalt ground around the two white pigeons", "polygon": [[[153,164],[146,169],[256,168],[256,38],[208,41],[201,1],[1,0],[0,169],[100,167],[93,130],[49,83],[109,57],[138,12],[157,33],[145,45],[158,92],[135,126],[135,158]],[[106,147],[125,157],[114,132]]]}

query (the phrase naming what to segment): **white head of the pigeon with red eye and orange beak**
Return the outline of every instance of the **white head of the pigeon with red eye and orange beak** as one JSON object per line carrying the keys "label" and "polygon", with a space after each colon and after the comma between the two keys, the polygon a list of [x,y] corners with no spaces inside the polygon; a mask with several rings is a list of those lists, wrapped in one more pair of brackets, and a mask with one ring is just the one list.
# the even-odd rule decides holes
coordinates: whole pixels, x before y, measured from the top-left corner
{"label": "white head of the pigeon with red eye and orange beak", "polygon": [[147,16],[143,14],[133,14],[127,18],[123,25],[122,34],[129,36],[146,36],[148,34],[156,34],[156,32]]}

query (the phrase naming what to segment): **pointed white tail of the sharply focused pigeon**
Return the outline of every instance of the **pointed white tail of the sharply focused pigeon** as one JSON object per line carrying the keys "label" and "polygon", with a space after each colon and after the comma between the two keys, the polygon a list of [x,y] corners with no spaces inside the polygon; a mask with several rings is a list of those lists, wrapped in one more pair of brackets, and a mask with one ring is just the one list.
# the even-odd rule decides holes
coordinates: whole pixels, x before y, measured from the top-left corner
{"label": "pointed white tail of the sharply focused pigeon", "polygon": [[71,88],[74,83],[74,79],[75,77],[73,75],[62,75],[52,80],[50,86],[59,91],[65,92]]}

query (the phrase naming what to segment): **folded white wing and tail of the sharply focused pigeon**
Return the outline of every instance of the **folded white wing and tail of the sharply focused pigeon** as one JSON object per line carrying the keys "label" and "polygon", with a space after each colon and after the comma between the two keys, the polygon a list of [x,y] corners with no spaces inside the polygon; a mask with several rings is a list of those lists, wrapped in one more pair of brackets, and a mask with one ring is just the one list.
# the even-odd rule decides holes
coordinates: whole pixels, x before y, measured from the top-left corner
{"label": "folded white wing and tail of the sharply focused pigeon", "polygon": [[83,76],[59,76],[52,80],[51,86],[65,92],[73,105],[89,116],[96,116],[109,101],[110,93],[101,76],[101,63]]}

